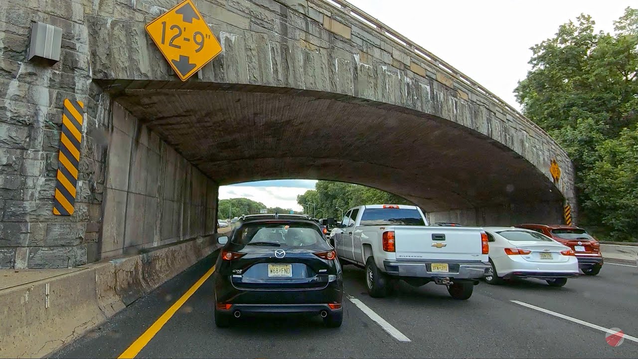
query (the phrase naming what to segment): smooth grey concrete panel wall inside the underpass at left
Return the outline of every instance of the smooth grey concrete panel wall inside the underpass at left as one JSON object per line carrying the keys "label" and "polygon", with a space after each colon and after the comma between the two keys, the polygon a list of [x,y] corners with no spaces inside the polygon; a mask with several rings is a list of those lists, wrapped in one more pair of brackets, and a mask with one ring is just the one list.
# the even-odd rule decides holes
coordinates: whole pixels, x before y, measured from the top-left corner
{"label": "smooth grey concrete panel wall inside the underpass at left", "polygon": [[215,231],[217,185],[112,103],[102,258]]}

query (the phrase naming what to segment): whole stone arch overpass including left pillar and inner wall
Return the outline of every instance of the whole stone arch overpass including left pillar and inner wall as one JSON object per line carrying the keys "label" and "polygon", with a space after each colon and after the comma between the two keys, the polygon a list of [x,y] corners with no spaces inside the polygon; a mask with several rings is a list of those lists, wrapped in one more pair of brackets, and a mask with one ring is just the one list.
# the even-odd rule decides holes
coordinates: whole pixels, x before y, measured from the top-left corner
{"label": "whole stone arch overpass including left pillar and inner wall", "polygon": [[[223,52],[181,82],[144,29],[175,4],[0,4],[0,268],[210,234],[218,186],[258,179],[359,183],[466,225],[561,222],[575,205],[549,135],[354,6],[195,0]],[[32,21],[63,29],[59,62],[27,61]],[[64,98],[86,109],[69,217],[52,213]]]}

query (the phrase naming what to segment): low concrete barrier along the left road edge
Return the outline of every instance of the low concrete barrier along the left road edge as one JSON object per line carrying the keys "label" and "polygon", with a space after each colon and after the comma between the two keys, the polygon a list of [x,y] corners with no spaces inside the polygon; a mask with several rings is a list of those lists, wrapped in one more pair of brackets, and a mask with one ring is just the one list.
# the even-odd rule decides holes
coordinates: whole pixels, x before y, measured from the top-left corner
{"label": "low concrete barrier along the left road edge", "polygon": [[56,351],[219,247],[195,238],[0,291],[0,357]]}

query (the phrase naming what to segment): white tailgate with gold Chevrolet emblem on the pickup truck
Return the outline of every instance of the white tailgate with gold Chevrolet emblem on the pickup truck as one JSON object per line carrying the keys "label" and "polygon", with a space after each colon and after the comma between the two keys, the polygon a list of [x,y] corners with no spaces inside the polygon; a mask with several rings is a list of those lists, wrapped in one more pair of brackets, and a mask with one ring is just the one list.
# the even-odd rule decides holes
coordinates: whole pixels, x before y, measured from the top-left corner
{"label": "white tailgate with gold Chevrolet emblem on the pickup truck", "polygon": [[[396,258],[480,260],[481,232],[482,229],[478,227],[396,226]],[[487,255],[485,257],[487,261]]]}

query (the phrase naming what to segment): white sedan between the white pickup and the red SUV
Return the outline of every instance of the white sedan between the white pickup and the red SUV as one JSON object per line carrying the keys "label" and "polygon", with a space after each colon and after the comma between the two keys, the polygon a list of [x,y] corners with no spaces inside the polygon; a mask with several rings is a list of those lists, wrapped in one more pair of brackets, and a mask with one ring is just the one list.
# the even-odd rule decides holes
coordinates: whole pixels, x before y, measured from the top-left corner
{"label": "white sedan between the white pickup and the red SUV", "polygon": [[574,250],[531,229],[484,227],[489,243],[489,262],[493,275],[489,284],[503,279],[537,278],[562,287],[567,278],[578,275]]}

